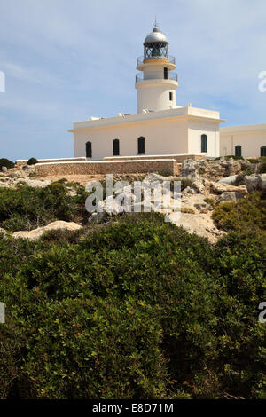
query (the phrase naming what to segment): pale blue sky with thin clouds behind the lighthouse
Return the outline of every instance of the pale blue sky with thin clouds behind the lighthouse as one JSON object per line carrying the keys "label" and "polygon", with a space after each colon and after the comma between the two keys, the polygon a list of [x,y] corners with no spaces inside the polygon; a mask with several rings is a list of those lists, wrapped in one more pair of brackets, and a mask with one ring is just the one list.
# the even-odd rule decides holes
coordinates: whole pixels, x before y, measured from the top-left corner
{"label": "pale blue sky with thin clouds behind the lighthouse", "polygon": [[176,57],[176,105],[224,126],[266,122],[264,0],[0,0],[0,158],[73,156],[73,122],[136,113],[154,15]]}

